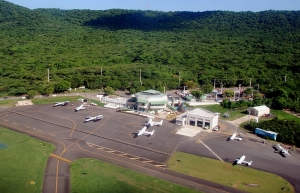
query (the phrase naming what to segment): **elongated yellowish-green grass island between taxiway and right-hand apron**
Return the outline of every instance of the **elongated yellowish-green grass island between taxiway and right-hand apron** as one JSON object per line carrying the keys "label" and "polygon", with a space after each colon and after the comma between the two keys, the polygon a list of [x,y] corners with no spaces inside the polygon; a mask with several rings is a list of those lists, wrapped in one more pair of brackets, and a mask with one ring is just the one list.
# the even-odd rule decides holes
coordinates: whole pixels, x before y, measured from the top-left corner
{"label": "elongated yellowish-green grass island between taxiway and right-hand apron", "polygon": [[[280,176],[196,155],[175,152],[169,160],[168,166],[170,170],[179,173],[247,192],[283,192],[282,188],[285,188],[284,192],[294,192],[293,186]],[[258,187],[250,187],[245,184],[257,184]]]}

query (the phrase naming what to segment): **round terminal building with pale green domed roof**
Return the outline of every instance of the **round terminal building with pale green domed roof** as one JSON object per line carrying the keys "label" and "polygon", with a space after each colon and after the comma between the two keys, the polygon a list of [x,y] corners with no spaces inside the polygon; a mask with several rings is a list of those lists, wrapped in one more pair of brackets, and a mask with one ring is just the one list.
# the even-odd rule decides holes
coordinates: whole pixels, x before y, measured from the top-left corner
{"label": "round terminal building with pale green domed roof", "polygon": [[167,95],[156,91],[146,90],[135,93],[138,111],[157,111],[161,112],[166,109],[168,104]]}

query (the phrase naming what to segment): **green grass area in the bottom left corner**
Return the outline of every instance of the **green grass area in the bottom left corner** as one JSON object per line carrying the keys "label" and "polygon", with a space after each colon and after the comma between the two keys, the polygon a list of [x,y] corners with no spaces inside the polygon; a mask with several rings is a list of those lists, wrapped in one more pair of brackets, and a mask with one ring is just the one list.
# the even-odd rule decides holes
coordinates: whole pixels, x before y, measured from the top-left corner
{"label": "green grass area in the bottom left corner", "polygon": [[40,193],[53,150],[53,145],[0,127],[0,192]]}

